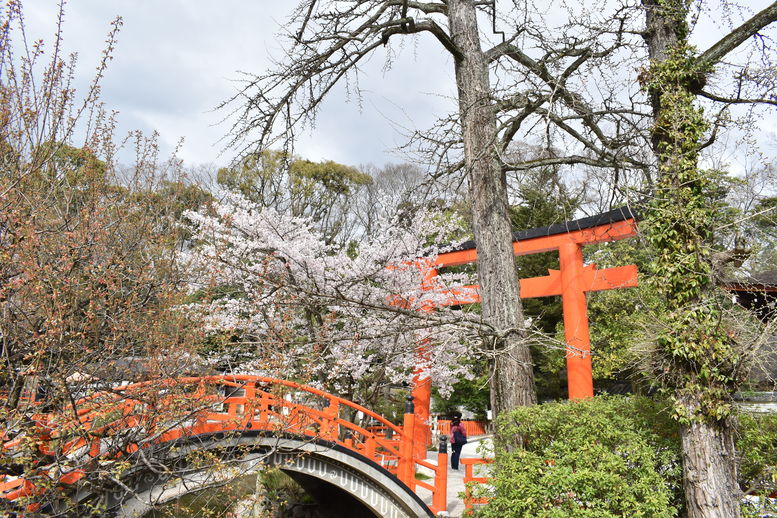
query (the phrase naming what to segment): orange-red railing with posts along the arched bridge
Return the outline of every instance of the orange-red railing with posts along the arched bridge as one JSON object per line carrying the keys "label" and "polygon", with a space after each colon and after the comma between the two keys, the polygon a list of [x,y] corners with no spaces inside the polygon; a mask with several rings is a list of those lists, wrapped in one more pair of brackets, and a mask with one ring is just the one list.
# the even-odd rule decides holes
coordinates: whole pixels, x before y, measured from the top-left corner
{"label": "orange-red railing with posts along the arched bridge", "polygon": [[[370,425],[354,422],[358,414]],[[338,444],[381,465],[412,491],[419,487],[430,491],[435,514],[447,506],[447,453],[441,448],[437,466],[413,457],[412,401],[403,425],[397,426],[352,401],[295,382],[249,375],[208,376],[101,391],[78,401],[75,412],[39,414],[34,419],[39,437],[33,439],[40,453],[60,459],[56,470],[41,466],[39,471],[58,476],[59,485],[85,477],[90,459],[116,459],[201,434],[256,430]],[[6,442],[2,454],[13,457],[29,440],[17,437]],[[433,481],[417,480],[417,466],[432,470]],[[33,497],[37,491],[28,479],[0,475],[0,498]]]}

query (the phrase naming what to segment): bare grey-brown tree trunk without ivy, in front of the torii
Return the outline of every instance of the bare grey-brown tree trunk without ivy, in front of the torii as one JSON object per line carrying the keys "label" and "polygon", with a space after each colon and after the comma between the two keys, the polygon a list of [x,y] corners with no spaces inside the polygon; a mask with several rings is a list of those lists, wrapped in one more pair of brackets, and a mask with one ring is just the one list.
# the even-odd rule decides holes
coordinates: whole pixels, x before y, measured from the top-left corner
{"label": "bare grey-brown tree trunk without ivy, in front of the torii", "polygon": [[523,308],[512,248],[507,180],[497,156],[496,112],[488,63],[480,47],[473,0],[448,2],[450,32],[461,50],[456,85],[478,250],[483,319],[493,327],[491,408],[494,415],[536,402],[531,353],[524,341]]}

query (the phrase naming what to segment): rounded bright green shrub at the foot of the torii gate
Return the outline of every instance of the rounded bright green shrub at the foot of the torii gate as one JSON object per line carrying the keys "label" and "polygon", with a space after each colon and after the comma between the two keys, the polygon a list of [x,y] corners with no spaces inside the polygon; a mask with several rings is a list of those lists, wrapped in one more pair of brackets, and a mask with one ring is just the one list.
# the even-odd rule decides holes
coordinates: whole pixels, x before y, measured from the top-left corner
{"label": "rounded bright green shrub at the foot of the torii gate", "polygon": [[497,428],[495,492],[478,516],[669,518],[680,512],[677,427],[649,399],[521,408],[502,416]]}

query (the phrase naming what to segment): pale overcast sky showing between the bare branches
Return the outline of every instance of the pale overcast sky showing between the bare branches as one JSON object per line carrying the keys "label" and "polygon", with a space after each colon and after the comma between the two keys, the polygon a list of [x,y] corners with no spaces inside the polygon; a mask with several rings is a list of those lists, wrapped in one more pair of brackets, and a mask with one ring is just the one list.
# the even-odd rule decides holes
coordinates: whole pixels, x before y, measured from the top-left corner
{"label": "pale overcast sky showing between the bare branches", "polygon": [[[771,0],[746,0],[753,10]],[[32,38],[51,42],[55,0],[27,0]],[[261,73],[277,55],[276,34],[295,0],[70,0],[64,26],[68,51],[79,53],[79,72],[88,81],[102,43],[117,15],[124,26],[115,59],[103,83],[103,100],[120,112],[120,131],[160,133],[169,152],[183,138],[180,156],[190,165],[228,163],[219,140],[229,129],[226,112],[213,109],[235,92],[239,71]],[[719,37],[719,22],[695,31],[706,47]],[[723,27],[725,29],[725,27]],[[363,67],[360,105],[344,88],[334,92],[318,125],[301,135],[299,155],[349,165],[406,160],[393,150],[412,129],[428,128],[455,106],[450,58],[429,36],[408,43],[392,70],[378,53]],[[770,124],[773,126],[774,124]]]}

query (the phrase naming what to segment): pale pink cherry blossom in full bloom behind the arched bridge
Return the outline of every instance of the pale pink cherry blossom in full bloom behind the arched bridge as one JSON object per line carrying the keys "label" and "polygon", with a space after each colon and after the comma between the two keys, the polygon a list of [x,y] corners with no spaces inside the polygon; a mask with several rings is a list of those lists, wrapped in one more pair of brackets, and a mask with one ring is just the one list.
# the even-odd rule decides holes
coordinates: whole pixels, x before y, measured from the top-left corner
{"label": "pale pink cherry blossom in full bloom behind the arched bridge", "polygon": [[462,359],[476,343],[479,316],[438,306],[444,286],[471,279],[441,273],[436,289],[423,286],[428,265],[444,251],[430,243],[461,229],[454,218],[423,209],[401,223],[385,217],[376,232],[338,247],[312,220],[236,194],[185,216],[193,231],[186,252],[192,293],[209,294],[187,310],[209,332],[232,337],[242,355],[231,369],[280,370],[353,394],[355,385],[408,382],[423,343],[424,375],[443,393],[467,376]]}

